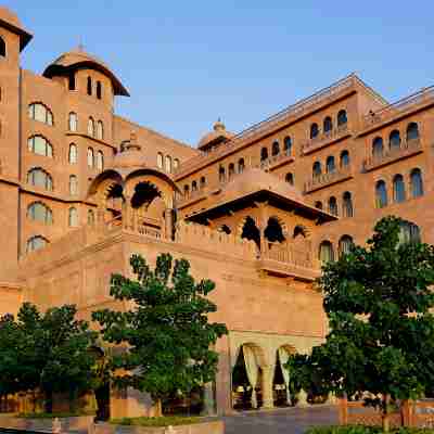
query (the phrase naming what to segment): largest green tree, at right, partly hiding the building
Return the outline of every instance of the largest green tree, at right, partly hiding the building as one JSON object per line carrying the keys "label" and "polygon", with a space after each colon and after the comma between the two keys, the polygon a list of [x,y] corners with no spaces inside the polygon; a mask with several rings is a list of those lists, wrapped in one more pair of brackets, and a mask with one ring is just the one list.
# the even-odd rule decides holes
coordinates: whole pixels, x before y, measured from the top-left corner
{"label": "largest green tree, at right, partly hiding the building", "polygon": [[434,247],[405,239],[405,225],[381,219],[366,247],[323,267],[330,333],[310,356],[289,362],[306,390],[369,392],[366,405],[382,411],[384,431],[391,399],[417,398],[434,384]]}

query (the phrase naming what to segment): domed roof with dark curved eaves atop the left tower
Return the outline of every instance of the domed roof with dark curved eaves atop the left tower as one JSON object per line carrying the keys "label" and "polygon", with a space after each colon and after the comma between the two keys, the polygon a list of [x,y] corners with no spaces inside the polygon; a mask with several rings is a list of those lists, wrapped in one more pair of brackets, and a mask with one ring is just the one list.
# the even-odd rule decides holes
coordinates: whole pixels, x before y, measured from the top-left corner
{"label": "domed roof with dark curved eaves atop the left tower", "polygon": [[104,74],[112,80],[113,90],[116,95],[129,97],[128,90],[125,89],[124,85],[112,73],[108,66],[98,58],[85,52],[81,48],[60,55],[53,63],[47,66],[42,75],[47,78],[52,78],[56,75],[67,75],[71,71],[84,68],[99,71]]}

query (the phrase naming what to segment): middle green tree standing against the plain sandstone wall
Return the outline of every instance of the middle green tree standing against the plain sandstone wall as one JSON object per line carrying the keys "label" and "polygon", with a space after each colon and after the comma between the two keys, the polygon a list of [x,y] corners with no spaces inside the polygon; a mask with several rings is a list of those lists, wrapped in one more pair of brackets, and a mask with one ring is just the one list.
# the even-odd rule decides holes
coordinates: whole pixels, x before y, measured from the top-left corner
{"label": "middle green tree standing against the plain sandstone wall", "polygon": [[112,368],[124,372],[114,375],[115,384],[150,393],[161,413],[163,398],[215,379],[218,355],[210,347],[227,329],[208,322],[208,314],[217,310],[206,298],[214,282],[196,283],[186,259],[174,263],[162,254],[151,270],[133,255],[130,265],[137,279],[113,275],[111,284],[112,296],[133,302],[129,310],[99,310],[93,319],[105,341],[124,345],[112,360]]}

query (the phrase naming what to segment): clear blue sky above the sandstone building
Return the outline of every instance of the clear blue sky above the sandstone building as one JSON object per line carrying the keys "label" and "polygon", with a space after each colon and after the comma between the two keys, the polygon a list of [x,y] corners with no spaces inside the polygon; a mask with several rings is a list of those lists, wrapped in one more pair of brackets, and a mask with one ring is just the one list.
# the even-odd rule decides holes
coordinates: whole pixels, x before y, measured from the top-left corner
{"label": "clear blue sky above the sandstone building", "polygon": [[432,1],[2,4],[35,36],[25,68],[41,73],[81,40],[131,93],[117,113],[190,144],[219,116],[240,131],[350,72],[392,101],[434,84]]}

